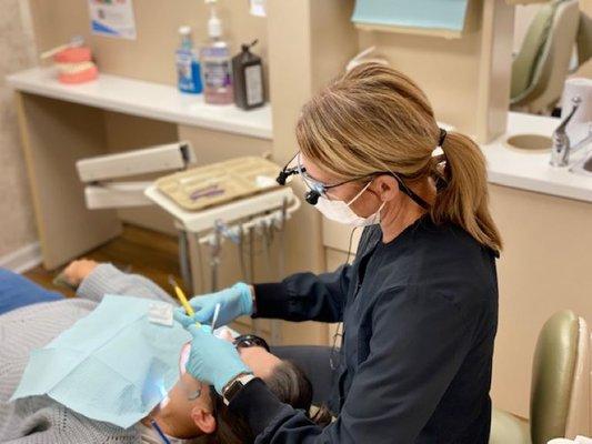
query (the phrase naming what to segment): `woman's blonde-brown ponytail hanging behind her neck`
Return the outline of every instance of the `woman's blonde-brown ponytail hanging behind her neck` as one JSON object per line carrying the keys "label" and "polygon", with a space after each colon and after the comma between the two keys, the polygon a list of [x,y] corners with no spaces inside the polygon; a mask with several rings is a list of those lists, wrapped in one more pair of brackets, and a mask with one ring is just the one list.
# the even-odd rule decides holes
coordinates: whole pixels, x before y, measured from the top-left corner
{"label": "woman's blonde-brown ponytail hanging behind her neck", "polygon": [[443,138],[445,164],[441,171],[446,184],[431,210],[435,223],[453,222],[476,241],[500,251],[502,240],[489,212],[485,158],[466,135],[449,132]]}

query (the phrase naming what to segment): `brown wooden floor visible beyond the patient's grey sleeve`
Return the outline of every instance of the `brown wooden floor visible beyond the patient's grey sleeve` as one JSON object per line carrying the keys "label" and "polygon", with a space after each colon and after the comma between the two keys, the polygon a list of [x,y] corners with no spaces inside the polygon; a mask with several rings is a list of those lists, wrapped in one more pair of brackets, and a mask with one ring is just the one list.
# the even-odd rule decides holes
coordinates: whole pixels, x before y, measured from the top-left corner
{"label": "brown wooden floor visible beyond the patient's grey sleeve", "polygon": [[[82,258],[112,262],[119,269],[140,273],[169,291],[169,274],[173,275],[177,282],[181,282],[178,252],[177,238],[136,225],[124,225],[119,238],[83,254]],[[39,265],[23,274],[47,289],[73,296],[72,290],[53,284],[59,271],[47,271]]]}

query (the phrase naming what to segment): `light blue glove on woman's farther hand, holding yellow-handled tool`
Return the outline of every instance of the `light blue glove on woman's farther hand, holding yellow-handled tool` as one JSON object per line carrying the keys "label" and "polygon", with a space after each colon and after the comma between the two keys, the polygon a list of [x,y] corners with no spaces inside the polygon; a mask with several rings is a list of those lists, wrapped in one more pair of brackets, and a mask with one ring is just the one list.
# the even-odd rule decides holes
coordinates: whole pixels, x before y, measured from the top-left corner
{"label": "light blue glove on woman's farther hand, holding yellow-handled tool", "polygon": [[189,304],[195,311],[193,316],[188,316],[183,307],[174,310],[175,321],[184,327],[195,322],[211,324],[217,304],[220,304],[217,326],[225,325],[239,316],[250,315],[253,312],[251,287],[243,282],[238,282],[230,289],[217,293],[192,297]]}

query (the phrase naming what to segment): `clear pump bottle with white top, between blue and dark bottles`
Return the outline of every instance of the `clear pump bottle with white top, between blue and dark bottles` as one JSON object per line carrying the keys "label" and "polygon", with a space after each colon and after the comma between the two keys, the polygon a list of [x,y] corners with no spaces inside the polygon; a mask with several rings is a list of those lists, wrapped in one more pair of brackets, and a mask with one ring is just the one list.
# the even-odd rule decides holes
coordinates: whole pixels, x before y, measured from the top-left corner
{"label": "clear pump bottle with white top, between blue and dark bottles", "polygon": [[211,14],[208,20],[210,40],[201,49],[203,98],[205,103],[229,104],[234,100],[230,50],[222,40],[222,23],[215,14],[215,2],[217,0],[205,0],[210,4]]}

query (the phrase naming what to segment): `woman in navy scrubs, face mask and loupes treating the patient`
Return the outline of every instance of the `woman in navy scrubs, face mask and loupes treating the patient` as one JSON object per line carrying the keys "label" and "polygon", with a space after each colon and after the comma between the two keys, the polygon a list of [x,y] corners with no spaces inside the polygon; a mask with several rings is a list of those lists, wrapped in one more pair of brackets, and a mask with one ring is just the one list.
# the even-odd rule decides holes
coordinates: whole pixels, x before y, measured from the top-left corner
{"label": "woman in navy scrubs, face mask and loupes treating the patient", "polygon": [[[194,297],[193,321],[220,303],[221,323],[343,322],[327,398],[337,421],[321,428],[279,402],[231,344],[180,312],[193,335],[188,371],[259,443],[488,443],[501,240],[479,148],[438,127],[413,81],[372,63],[313,97],[295,131],[300,151],[280,182],[300,175],[327,218],[367,226],[354,262]],[[329,360],[317,367],[331,372]]]}

